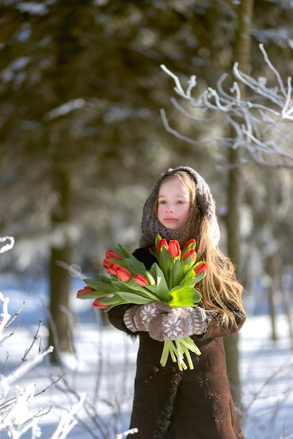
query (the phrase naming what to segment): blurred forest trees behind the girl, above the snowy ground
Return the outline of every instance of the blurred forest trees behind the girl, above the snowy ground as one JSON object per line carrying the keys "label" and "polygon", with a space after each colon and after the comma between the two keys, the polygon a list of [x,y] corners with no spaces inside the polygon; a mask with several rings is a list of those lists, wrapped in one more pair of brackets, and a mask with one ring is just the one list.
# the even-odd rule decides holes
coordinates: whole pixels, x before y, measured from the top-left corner
{"label": "blurred forest trees behind the girl, above the snowy ground", "polygon": [[[235,147],[237,130],[207,106],[200,117],[193,110],[192,118],[178,112],[170,100],[174,81],[160,66],[185,88],[195,75],[193,95],[216,89],[225,73],[229,90],[235,62],[273,88],[276,78],[259,44],[287,78],[293,67],[292,2],[0,5],[0,234],[15,238],[1,271],[48,280],[48,344],[58,346],[52,360],[72,349],[64,311],[70,310],[70,273],[96,276],[105,250],[117,243],[134,250],[152,184],[180,165],[195,168],[210,184],[221,247],[247,295],[266,293],[272,337],[278,337],[274,301],[281,297],[286,311],[292,301],[283,294],[284,279],[292,286],[292,154],[289,163],[275,150],[268,162],[257,161],[245,146]],[[165,129],[160,109],[181,135]],[[226,353],[239,400],[237,337]]]}

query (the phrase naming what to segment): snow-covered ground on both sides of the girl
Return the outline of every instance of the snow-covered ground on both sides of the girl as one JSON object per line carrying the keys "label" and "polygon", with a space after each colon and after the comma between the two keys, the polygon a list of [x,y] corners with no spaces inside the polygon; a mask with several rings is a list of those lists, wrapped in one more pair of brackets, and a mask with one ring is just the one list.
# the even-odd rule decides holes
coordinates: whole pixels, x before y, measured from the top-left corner
{"label": "snow-covered ground on both sides of the girl", "polygon": [[[30,382],[35,384],[36,396],[30,404],[30,414],[35,414],[40,407],[44,407],[46,412],[52,406],[39,421],[42,438],[51,438],[63,410],[76,404],[85,392],[86,403],[79,412],[79,423],[67,437],[114,439],[129,426],[137,344],[112,327],[98,329],[99,314],[93,311],[90,301],[75,299],[75,292],[82,285],[78,282],[72,288],[75,356],[64,358],[62,368],[48,367],[48,362],[43,361],[22,377],[18,385],[24,388]],[[24,320],[22,325],[0,344],[0,371],[5,365],[5,375],[20,365],[25,350],[32,344],[41,317],[42,302],[46,306],[46,285],[27,278],[0,276],[0,291],[10,298],[12,316],[20,309],[30,290],[32,296],[13,327]],[[289,349],[286,320],[282,313],[278,314],[280,339],[272,342],[268,316],[255,313],[251,304],[248,304],[247,311],[247,322],[240,332],[240,371],[243,403],[247,411],[247,439],[293,438],[293,355]],[[9,328],[9,332],[13,327]],[[41,342],[44,350],[45,325],[39,331],[30,358],[37,354],[40,339],[44,340]],[[30,435],[22,437],[27,439]]]}

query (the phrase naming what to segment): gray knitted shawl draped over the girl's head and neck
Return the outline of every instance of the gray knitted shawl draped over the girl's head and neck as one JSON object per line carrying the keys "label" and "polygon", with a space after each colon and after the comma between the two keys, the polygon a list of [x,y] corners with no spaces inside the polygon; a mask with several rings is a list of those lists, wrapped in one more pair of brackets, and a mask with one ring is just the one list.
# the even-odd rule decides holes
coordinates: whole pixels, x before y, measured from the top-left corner
{"label": "gray knitted shawl draped over the girl's head and neck", "polygon": [[[164,180],[164,178],[174,175],[178,171],[187,173],[192,180],[194,180],[196,187],[195,206],[192,206],[191,208],[192,217],[189,219],[189,231],[186,231],[186,227],[182,227],[178,230],[167,229],[159,223],[152,210],[157,197],[159,184],[162,182],[162,180]],[[148,196],[148,199],[145,201],[141,222],[143,234],[139,244],[141,247],[150,247],[150,250],[152,253],[154,253],[154,244],[157,234],[162,236],[162,238],[166,238],[167,240],[177,239],[181,245],[183,245],[190,238],[195,238],[195,240],[197,240],[204,218],[209,219],[209,223],[211,225],[211,238],[216,246],[219,243],[220,230],[218,220],[216,218],[216,204],[214,202],[214,198],[211,196],[209,185],[193,168],[189,168],[188,166],[180,166],[179,168],[169,169],[166,173],[159,177],[155,185],[152,187],[150,196]],[[192,236],[190,236],[190,231]],[[187,234],[189,234],[189,236],[186,236]]]}

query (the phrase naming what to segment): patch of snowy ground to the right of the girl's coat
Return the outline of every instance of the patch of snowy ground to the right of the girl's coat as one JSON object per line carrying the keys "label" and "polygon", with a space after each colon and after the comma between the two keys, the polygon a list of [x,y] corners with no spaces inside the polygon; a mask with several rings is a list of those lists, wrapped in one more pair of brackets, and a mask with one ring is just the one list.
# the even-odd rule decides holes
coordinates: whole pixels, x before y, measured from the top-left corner
{"label": "patch of snowy ground to the right of the girl's coat", "polygon": [[240,337],[240,373],[247,439],[293,438],[293,355],[284,316],[282,338],[270,339],[268,316],[248,317]]}

